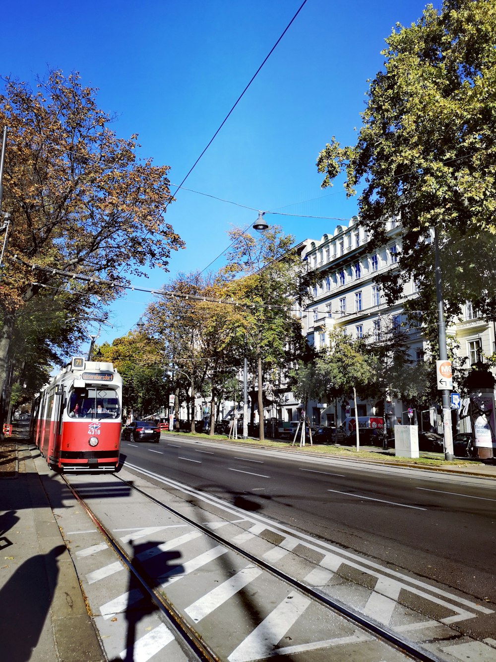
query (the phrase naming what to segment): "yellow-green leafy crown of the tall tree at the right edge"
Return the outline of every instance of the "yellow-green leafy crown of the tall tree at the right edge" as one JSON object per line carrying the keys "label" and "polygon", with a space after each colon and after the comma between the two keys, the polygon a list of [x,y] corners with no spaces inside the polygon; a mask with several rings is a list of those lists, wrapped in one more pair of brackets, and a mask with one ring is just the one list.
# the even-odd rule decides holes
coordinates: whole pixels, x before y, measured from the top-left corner
{"label": "yellow-green leafy crown of the tall tree at the right edge", "polygon": [[377,279],[390,301],[412,275],[433,300],[436,228],[448,317],[472,301],[496,318],[495,42],[493,0],[427,5],[417,23],[398,24],[386,39],[356,144],[333,138],[319,154],[324,187],[345,171],[348,195],[362,189],[372,242],[386,242],[388,218],[401,221],[399,269]]}

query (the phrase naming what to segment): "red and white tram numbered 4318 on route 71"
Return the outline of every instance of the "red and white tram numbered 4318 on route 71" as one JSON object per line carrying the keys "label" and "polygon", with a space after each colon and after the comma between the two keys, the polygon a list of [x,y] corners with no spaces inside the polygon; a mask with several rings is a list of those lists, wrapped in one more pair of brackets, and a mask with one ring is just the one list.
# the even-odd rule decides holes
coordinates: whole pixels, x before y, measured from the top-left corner
{"label": "red and white tram numbered 4318 on route 71", "polygon": [[112,363],[74,357],[38,395],[32,436],[55,471],[115,471],[122,377]]}

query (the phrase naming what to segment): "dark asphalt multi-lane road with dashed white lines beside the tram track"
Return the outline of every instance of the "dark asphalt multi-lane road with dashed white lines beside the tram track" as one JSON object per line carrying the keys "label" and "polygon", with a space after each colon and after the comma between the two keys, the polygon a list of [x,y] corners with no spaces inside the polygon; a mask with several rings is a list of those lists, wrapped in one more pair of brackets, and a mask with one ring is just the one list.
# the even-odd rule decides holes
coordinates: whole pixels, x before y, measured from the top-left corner
{"label": "dark asphalt multi-lane road with dashed white lines beside the tram track", "polygon": [[130,463],[282,524],[496,602],[489,479],[210,444],[122,442]]}

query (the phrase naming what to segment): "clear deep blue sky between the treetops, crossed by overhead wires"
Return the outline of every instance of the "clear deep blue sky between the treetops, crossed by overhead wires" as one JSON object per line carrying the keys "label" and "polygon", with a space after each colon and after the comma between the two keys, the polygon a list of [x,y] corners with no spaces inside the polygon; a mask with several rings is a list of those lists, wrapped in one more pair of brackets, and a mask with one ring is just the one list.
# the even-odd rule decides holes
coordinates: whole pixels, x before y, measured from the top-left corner
{"label": "clear deep blue sky between the treetops, crossed by overhead wires", "polygon": [[[79,71],[84,84],[99,88],[99,105],[116,113],[116,133],[138,133],[138,154],[171,166],[171,183],[179,184],[301,4],[7,3],[0,71],[28,81],[48,68]],[[134,285],[158,289],[178,271],[207,267],[227,248],[231,226],[257,218],[257,211],[238,205],[302,216],[356,214],[356,199],[347,200],[341,181],[320,189],[315,160],[333,135],[354,144],[366,81],[383,64],[384,38],[395,23],[417,21],[424,7],[421,0],[308,0],[186,180],[187,189],[207,195],[178,191],[167,209],[186,249],[172,254],[169,273],[155,269]],[[266,218],[296,242],[319,239],[337,223]],[[209,270],[223,263],[221,258]],[[151,299],[134,291],[117,301],[114,327],[103,329],[99,342],[126,334]]]}

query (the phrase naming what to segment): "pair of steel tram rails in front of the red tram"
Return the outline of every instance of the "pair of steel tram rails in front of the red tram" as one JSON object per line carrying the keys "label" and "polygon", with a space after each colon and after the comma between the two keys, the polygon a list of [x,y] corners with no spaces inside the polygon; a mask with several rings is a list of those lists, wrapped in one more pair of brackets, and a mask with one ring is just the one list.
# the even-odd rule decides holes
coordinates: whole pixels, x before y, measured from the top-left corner
{"label": "pair of steel tram rails in front of the red tram", "polygon": [[[227,549],[233,553],[243,557],[249,563],[256,565],[263,571],[270,573],[276,579],[283,581],[296,591],[304,594],[311,600],[319,603],[321,606],[324,606],[337,616],[345,618],[353,626],[360,628],[360,630],[365,631],[367,634],[374,636],[375,638],[388,643],[388,645],[397,649],[397,651],[407,655],[411,659],[422,660],[422,661],[431,661],[431,662],[441,662],[442,658],[436,656],[433,652],[427,651],[421,645],[410,641],[409,639],[401,636],[401,634],[394,632],[392,629],[384,626],[383,624],[376,622],[374,619],[370,618],[354,610],[351,606],[344,604],[343,602],[332,598],[331,596],[311,587],[306,583],[302,583],[298,579],[295,579],[288,573],[282,571],[278,567],[268,563],[264,559],[257,557],[256,555],[251,554],[246,549],[242,549],[238,545],[233,544],[231,541],[226,540],[226,538],[220,536],[211,528],[203,526],[199,522],[192,520],[192,518],[186,516],[185,514],[171,508],[168,504],[163,503],[161,500],[155,498],[155,496],[150,495],[145,490],[137,487],[130,481],[126,481],[122,477],[112,474],[112,478],[120,483],[126,485],[126,487],[141,496],[145,499],[153,502],[156,506],[163,508],[169,514],[179,518],[179,520],[185,522],[188,526],[194,528],[201,532],[204,536],[208,536],[211,540],[214,540],[220,545],[224,545]],[[87,512],[88,516],[91,518],[95,526],[97,526],[99,532],[104,536],[110,547],[113,549],[114,553],[118,556],[120,561],[128,569],[130,573],[133,573],[136,581],[140,583],[140,586],[143,588],[145,594],[148,594],[155,606],[160,610],[168,624],[173,629],[173,632],[177,635],[177,638],[183,643],[183,646],[188,648],[188,651],[194,653],[195,659],[202,661],[218,661],[221,658],[216,655],[216,652],[212,650],[206,641],[192,628],[188,620],[184,618],[180,610],[175,607],[175,605],[167,599],[167,596],[163,592],[159,591],[156,587],[151,585],[150,581],[147,580],[145,571],[140,569],[140,566],[130,558],[126,549],[116,540],[112,533],[104,526],[104,524],[99,520],[97,515],[93,512],[90,506],[85,502],[84,496],[78,493],[77,489],[67,481],[67,479],[62,476],[65,485],[71,491],[77,502],[81,504],[81,507]]]}

